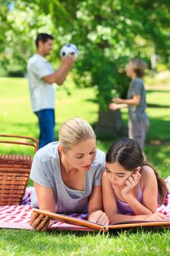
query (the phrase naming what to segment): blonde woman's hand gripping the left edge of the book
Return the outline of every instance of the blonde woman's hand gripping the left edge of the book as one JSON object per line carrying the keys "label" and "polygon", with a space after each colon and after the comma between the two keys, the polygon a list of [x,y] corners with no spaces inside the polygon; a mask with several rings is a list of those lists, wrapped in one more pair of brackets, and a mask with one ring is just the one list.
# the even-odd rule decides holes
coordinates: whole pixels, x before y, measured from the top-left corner
{"label": "blonde woman's hand gripping the left edge of the book", "polygon": [[34,211],[32,211],[31,220],[29,224],[31,225],[31,227],[34,228],[34,230],[45,231],[47,230],[49,223],[50,223],[49,217],[43,214],[37,214]]}

